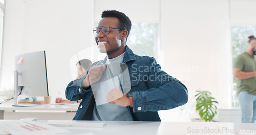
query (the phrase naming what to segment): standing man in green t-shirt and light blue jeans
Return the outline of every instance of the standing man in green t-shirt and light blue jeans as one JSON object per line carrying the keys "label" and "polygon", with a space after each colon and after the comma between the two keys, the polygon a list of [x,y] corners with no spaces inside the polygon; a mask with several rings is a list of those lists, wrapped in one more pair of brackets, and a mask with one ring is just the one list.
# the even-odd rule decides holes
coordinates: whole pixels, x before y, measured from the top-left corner
{"label": "standing man in green t-shirt and light blue jeans", "polygon": [[256,122],[256,38],[248,37],[248,48],[233,63],[233,77],[237,78],[238,100],[243,123]]}

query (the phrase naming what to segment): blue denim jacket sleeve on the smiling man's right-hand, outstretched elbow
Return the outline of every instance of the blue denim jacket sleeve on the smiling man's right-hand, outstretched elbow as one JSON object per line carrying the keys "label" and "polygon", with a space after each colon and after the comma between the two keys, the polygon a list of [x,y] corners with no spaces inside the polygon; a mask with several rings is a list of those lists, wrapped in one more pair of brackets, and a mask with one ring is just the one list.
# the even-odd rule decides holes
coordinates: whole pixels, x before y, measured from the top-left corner
{"label": "blue denim jacket sleeve on the smiling man's right-hand, outstretched elbow", "polygon": [[[144,68],[146,91],[133,92],[133,111],[158,111],[184,105],[188,100],[187,88],[176,78],[161,70],[156,60],[147,57]],[[144,70],[146,71],[146,70]]]}

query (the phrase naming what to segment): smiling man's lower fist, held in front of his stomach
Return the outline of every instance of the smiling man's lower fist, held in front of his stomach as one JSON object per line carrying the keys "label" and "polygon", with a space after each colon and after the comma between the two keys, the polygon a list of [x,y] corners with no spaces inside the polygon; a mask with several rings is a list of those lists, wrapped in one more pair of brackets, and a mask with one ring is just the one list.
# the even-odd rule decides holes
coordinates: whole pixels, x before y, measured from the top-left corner
{"label": "smiling man's lower fist, held in front of his stomach", "polygon": [[120,106],[131,106],[130,99],[124,95],[117,88],[113,88],[108,95],[106,95],[106,101],[111,104],[118,104]]}

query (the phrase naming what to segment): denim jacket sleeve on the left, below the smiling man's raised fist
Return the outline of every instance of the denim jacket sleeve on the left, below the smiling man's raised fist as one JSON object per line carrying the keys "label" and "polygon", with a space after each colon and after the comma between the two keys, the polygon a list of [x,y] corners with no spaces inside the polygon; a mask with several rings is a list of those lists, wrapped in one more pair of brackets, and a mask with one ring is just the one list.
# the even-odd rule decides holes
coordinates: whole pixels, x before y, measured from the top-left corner
{"label": "denim jacket sleeve on the left, below the smiling man's raised fist", "polygon": [[77,101],[82,99],[88,92],[92,90],[91,86],[88,89],[83,89],[81,86],[82,80],[85,79],[86,76],[82,78],[71,81],[66,88],[66,98],[71,101]]}

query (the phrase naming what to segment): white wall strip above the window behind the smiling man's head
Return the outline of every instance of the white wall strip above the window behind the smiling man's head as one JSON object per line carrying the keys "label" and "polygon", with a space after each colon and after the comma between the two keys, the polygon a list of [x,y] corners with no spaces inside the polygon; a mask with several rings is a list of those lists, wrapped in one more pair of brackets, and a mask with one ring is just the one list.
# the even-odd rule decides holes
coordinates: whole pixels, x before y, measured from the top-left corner
{"label": "white wall strip above the window behind the smiling man's head", "polygon": [[160,21],[160,0],[95,0],[94,2],[95,22],[101,19],[101,13],[104,10],[123,12],[133,22],[159,23]]}

